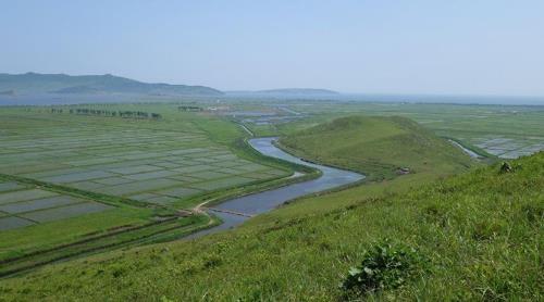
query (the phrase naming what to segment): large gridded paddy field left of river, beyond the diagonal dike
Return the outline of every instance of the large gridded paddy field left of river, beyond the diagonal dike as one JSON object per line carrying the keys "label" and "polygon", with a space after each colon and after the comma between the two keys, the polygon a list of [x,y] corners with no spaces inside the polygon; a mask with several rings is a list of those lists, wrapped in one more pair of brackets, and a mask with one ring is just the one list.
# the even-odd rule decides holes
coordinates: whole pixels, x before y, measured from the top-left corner
{"label": "large gridded paddy field left of river, beyond the diagonal dike", "polygon": [[3,174],[156,204],[288,175],[237,158],[202,131],[150,129],[138,122],[104,125],[106,118],[94,117],[60,117],[62,123],[22,129],[17,124],[32,117],[2,117],[2,124],[11,122],[16,129],[0,135]]}

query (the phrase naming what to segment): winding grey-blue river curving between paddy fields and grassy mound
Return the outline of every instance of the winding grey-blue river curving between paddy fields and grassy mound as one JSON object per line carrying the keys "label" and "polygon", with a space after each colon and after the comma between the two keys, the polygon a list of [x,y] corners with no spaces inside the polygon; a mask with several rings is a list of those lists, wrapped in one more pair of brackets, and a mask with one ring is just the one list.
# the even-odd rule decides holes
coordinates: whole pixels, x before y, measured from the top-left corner
{"label": "winding grey-blue river curving between paddy fields and grassy mound", "polygon": [[[364,175],[355,172],[305,162],[275,147],[273,144],[274,140],[276,140],[276,138],[270,138],[270,137],[254,138],[249,140],[249,144],[254,149],[256,149],[257,151],[267,156],[272,156],[287,162],[318,168],[322,172],[322,175],[319,178],[311,179],[308,181],[287,185],[285,187],[281,187],[277,189],[271,189],[268,191],[262,191],[258,193],[248,194],[245,197],[231,199],[221,204],[218,204],[213,209],[218,209],[219,211],[225,211],[225,212],[217,212],[212,210],[209,211],[210,214],[214,214],[221,217],[223,224],[212,228],[197,231],[188,236],[187,238],[197,238],[203,235],[235,227],[244,223],[246,219],[248,219],[249,218],[248,216],[269,212],[274,207],[285,203],[286,201],[309,193],[316,193],[327,189],[348,185],[364,178]],[[247,216],[231,214],[227,212],[244,213]]]}

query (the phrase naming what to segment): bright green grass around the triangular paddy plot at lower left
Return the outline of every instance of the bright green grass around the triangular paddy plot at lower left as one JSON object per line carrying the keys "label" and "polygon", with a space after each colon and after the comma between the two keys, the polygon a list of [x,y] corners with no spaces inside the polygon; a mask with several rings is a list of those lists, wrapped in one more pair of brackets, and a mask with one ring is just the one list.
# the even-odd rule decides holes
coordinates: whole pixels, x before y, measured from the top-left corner
{"label": "bright green grass around the triangular paddy plot at lower left", "polygon": [[[57,185],[41,184],[39,181],[22,179],[20,177],[10,177],[7,175],[0,175],[0,179],[10,179],[12,181],[11,184],[17,184],[20,186],[17,190],[3,192],[1,196],[13,196],[14,193],[18,193],[18,196],[22,196],[21,193],[37,191],[41,192],[42,194],[53,194],[54,197],[59,198],[72,198],[75,201],[75,203],[61,204],[60,206],[45,206],[38,210],[5,214],[14,217],[24,218],[27,215],[36,215],[46,213],[48,211],[62,211],[62,209],[70,207],[74,204],[81,205],[83,204],[82,202],[85,202],[84,204],[96,204],[101,206],[107,206],[102,205],[101,203],[113,205],[107,206],[108,209],[106,209],[104,212],[100,213],[81,213],[79,215],[72,218],[57,215],[55,217],[50,217],[52,222],[36,222],[37,225],[2,230],[0,231],[0,261],[22,256],[39,250],[51,249],[59,244],[74,242],[81,240],[82,238],[85,238],[89,234],[107,234],[110,229],[116,228],[119,226],[143,225],[149,223],[156,215],[169,214],[169,211],[166,209],[153,209],[153,206],[138,207],[134,205],[141,206],[141,204],[125,204],[122,201],[118,201],[116,198],[106,197],[102,199],[101,196],[96,193],[88,193],[85,191],[78,191]],[[39,190],[36,188],[39,188]],[[38,197],[39,196],[34,193],[28,196],[27,199],[36,201]],[[13,198],[11,199],[12,200],[8,201],[15,201],[13,200]],[[90,201],[96,200],[100,201],[101,203],[89,203]],[[17,203],[11,204],[16,205]],[[170,212],[170,214],[172,213],[173,212]]]}

